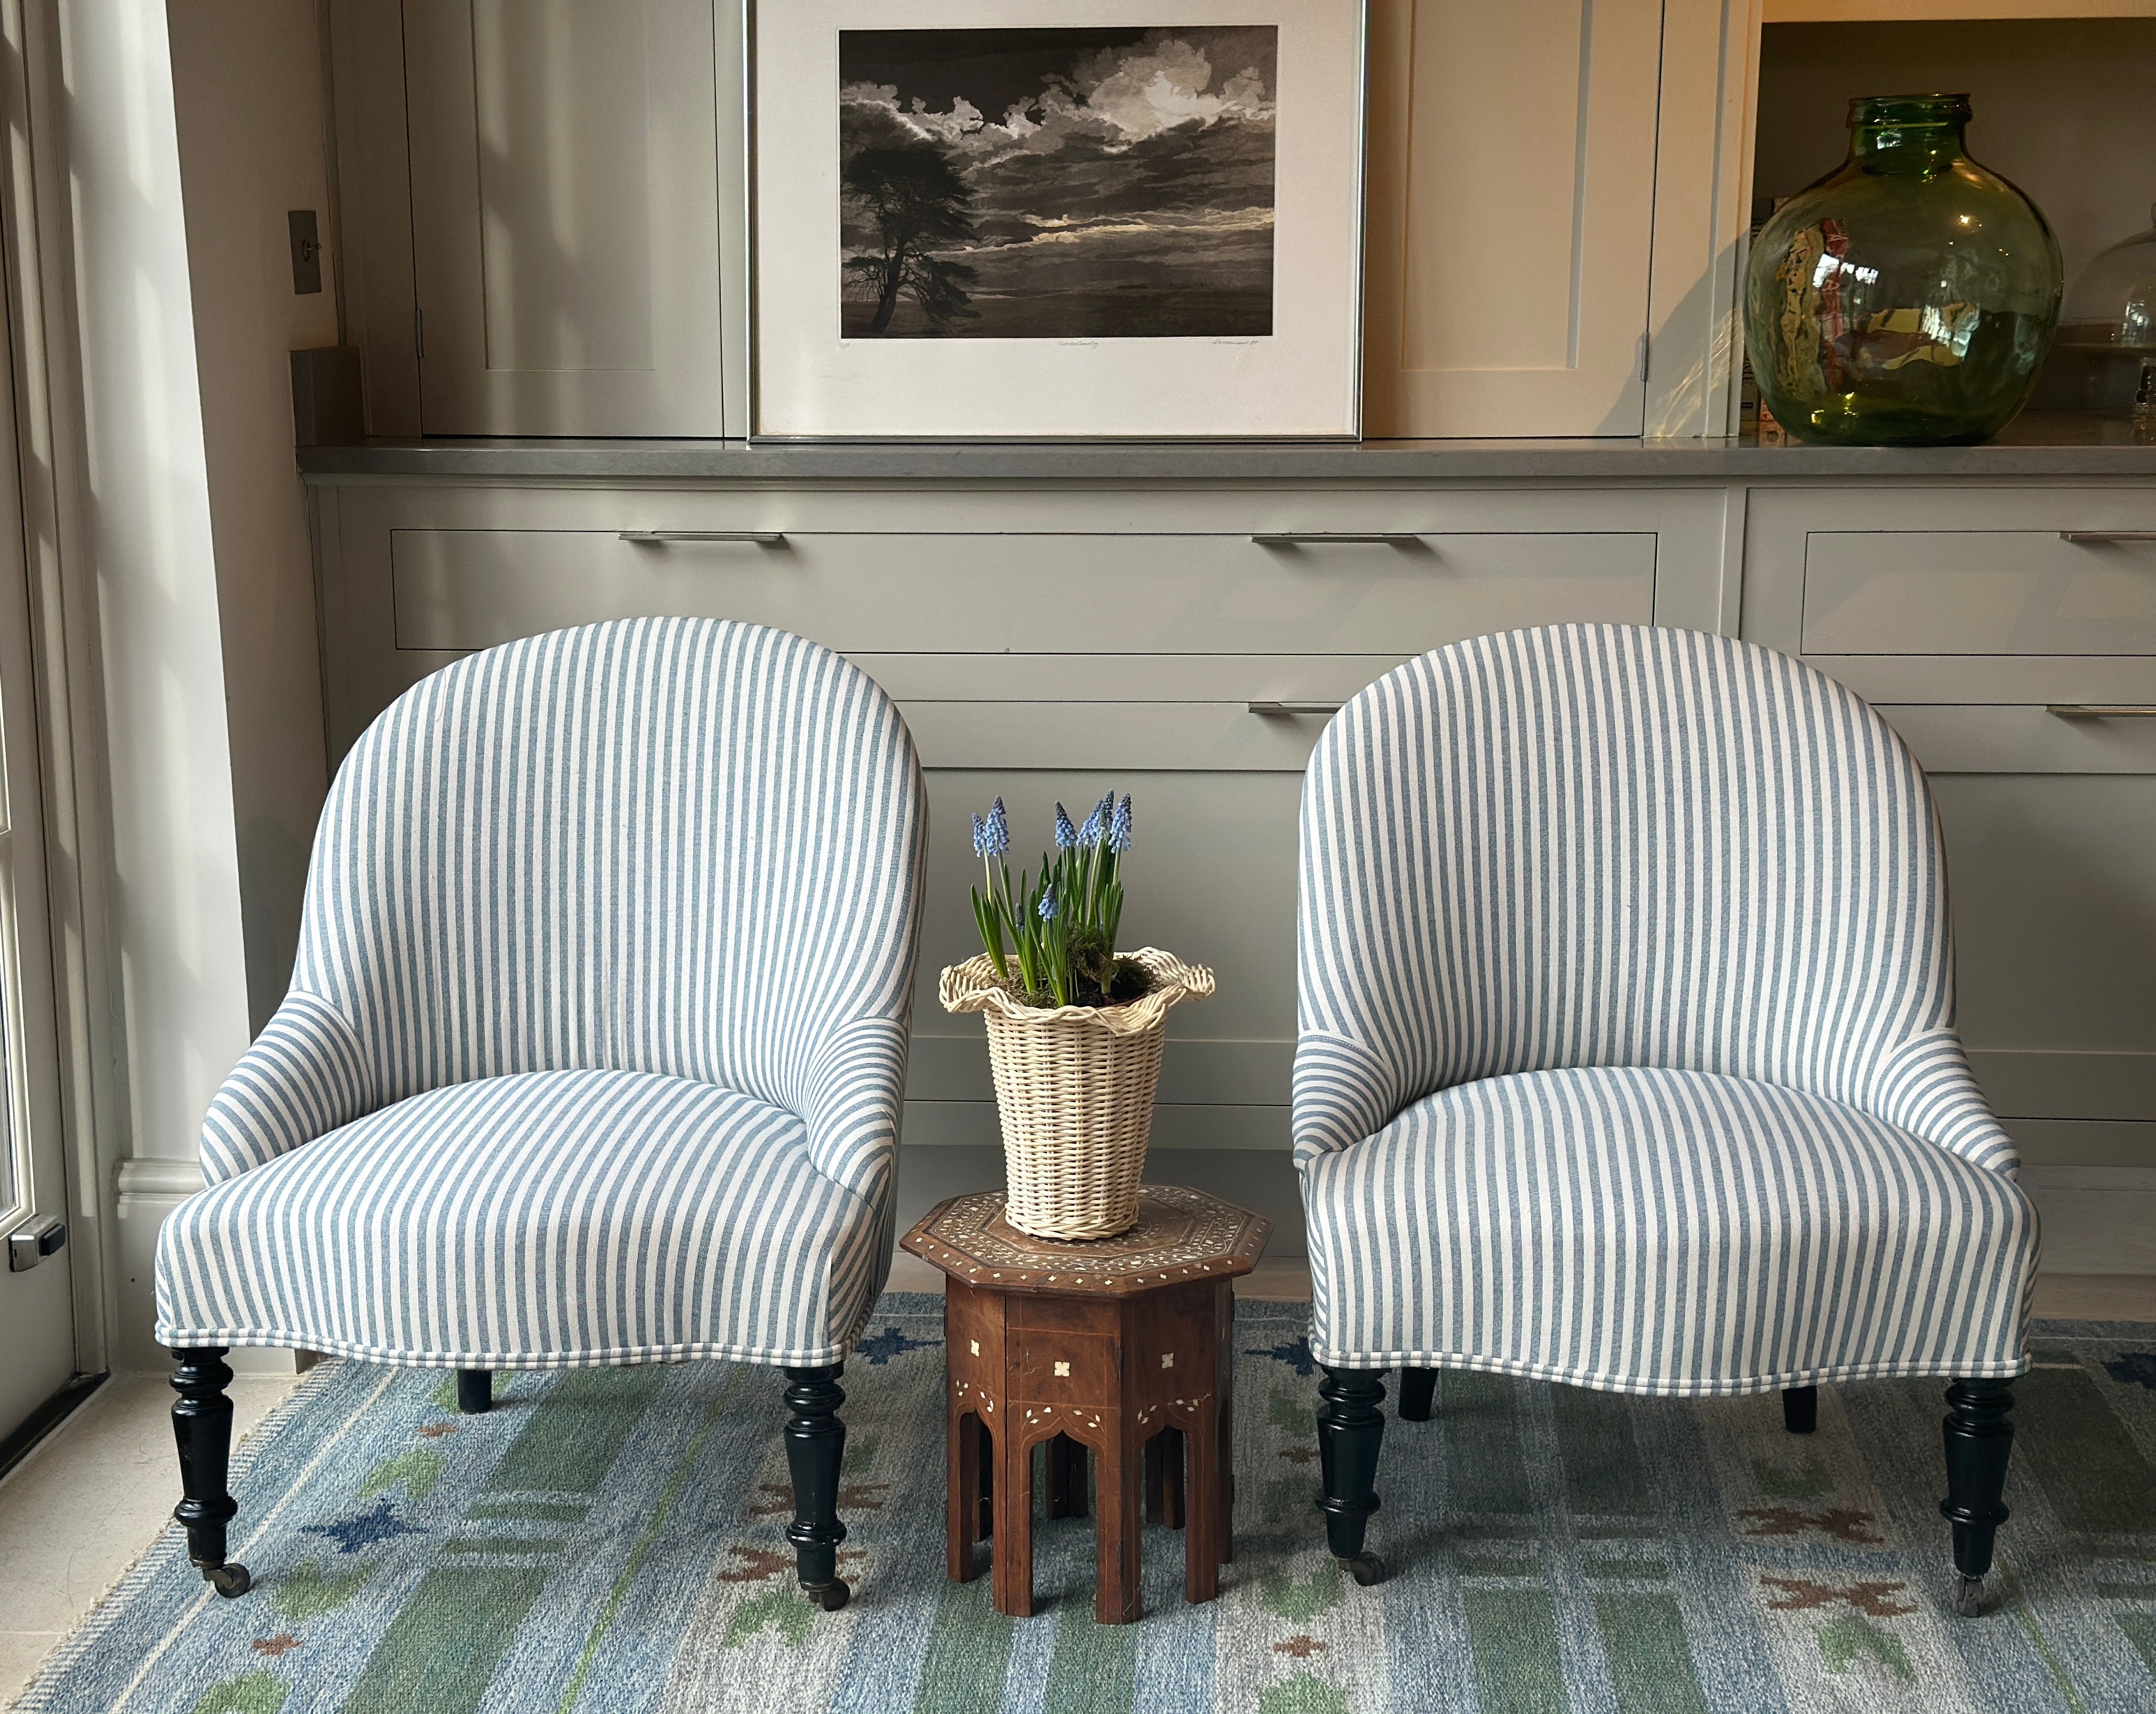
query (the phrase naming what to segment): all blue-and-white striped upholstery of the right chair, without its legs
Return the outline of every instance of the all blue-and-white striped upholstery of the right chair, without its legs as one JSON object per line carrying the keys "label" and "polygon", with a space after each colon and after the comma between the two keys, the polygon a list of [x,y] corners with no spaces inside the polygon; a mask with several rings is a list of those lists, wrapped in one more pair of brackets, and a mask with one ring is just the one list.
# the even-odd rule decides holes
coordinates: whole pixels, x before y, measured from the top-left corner
{"label": "all blue-and-white striped upholstery of the right chair, without its legs", "polygon": [[1641,1393],[2024,1367],[1915,757],[1731,638],[1483,636],[1302,800],[1313,1350]]}

